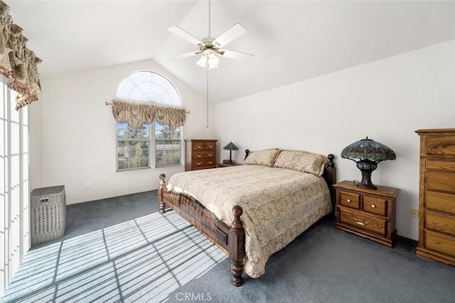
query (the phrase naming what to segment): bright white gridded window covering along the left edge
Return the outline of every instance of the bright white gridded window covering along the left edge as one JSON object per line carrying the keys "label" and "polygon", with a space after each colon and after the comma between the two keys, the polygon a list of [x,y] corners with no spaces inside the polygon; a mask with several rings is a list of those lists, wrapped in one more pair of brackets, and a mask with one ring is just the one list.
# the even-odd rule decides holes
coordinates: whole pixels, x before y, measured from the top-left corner
{"label": "bright white gridded window covering along the left edge", "polygon": [[29,242],[28,109],[16,111],[16,92],[1,77],[0,96],[0,297]]}

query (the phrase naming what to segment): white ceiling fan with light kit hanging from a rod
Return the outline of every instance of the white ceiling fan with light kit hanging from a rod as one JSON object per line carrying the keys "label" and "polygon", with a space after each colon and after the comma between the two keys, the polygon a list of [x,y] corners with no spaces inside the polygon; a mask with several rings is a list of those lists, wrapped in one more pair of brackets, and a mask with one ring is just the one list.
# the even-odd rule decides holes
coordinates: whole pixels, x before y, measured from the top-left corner
{"label": "white ceiling fan with light kit hanging from a rod", "polygon": [[168,28],[168,31],[175,35],[178,35],[180,38],[183,38],[188,42],[193,43],[194,45],[197,45],[199,47],[199,50],[197,51],[178,55],[177,56],[178,59],[203,54],[200,57],[200,59],[196,62],[196,64],[200,65],[201,67],[206,67],[208,70],[213,70],[214,68],[218,67],[218,63],[220,62],[218,55],[242,61],[249,61],[253,57],[255,57],[255,55],[252,54],[241,53],[235,50],[222,49],[228,43],[239,38],[241,35],[247,33],[247,29],[243,27],[240,23],[235,23],[231,28],[228,29],[228,31],[225,31],[218,38],[210,37],[210,0],[208,1],[207,38],[199,40],[190,33],[179,28],[178,26],[171,26],[170,28]]}

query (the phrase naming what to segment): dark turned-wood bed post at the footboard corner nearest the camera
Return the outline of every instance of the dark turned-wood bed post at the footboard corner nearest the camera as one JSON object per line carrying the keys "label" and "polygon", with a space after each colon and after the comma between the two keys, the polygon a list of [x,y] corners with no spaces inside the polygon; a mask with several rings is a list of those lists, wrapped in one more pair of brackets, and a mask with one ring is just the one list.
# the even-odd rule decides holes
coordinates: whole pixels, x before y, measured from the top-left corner
{"label": "dark turned-wood bed post at the footboard corner nearest the camera", "polygon": [[239,205],[232,207],[234,221],[229,231],[229,258],[231,260],[230,271],[232,273],[231,283],[234,286],[242,286],[243,259],[245,258],[245,230],[240,219],[243,209]]}

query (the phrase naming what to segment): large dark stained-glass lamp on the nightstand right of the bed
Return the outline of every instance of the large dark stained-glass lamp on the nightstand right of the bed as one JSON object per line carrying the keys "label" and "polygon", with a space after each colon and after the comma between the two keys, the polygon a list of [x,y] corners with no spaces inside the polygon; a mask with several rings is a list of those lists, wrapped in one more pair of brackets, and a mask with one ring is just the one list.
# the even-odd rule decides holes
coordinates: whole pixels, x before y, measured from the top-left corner
{"label": "large dark stained-glass lamp on the nightstand right of the bed", "polygon": [[362,181],[357,184],[358,187],[377,189],[371,182],[371,172],[378,167],[379,162],[395,160],[397,157],[389,147],[367,137],[346,146],[341,152],[341,158],[357,163],[357,168],[362,172]]}

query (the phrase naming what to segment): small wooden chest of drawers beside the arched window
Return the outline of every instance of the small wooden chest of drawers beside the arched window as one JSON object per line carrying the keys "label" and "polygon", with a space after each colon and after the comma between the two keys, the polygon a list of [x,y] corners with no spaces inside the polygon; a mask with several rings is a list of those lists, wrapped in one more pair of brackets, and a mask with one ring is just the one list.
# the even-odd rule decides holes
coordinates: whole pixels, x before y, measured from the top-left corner
{"label": "small wooden chest of drawers beside the arched window", "polygon": [[185,171],[216,167],[216,141],[185,139]]}

